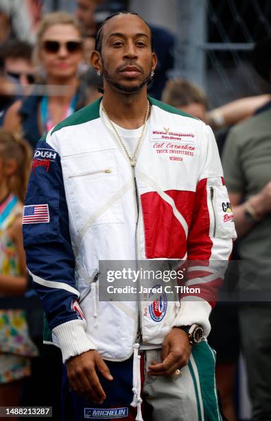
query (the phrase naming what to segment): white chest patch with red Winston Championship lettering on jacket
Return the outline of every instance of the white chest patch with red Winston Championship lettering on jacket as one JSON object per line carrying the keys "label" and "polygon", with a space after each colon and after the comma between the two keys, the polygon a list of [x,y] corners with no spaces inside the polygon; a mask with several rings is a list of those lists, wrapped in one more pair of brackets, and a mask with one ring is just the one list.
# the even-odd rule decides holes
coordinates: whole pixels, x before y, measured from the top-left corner
{"label": "white chest patch with red Winston Championship lettering on jacket", "polygon": [[150,139],[153,142],[164,140],[165,142],[195,142],[196,134],[193,129],[185,128],[184,130],[175,129],[174,127],[152,126]]}

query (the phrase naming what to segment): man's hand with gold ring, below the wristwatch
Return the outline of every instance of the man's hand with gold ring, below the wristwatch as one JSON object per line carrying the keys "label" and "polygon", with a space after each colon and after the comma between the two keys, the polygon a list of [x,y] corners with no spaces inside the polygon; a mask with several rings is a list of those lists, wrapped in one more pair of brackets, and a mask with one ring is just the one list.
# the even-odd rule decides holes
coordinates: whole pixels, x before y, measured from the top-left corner
{"label": "man's hand with gold ring, below the wristwatch", "polygon": [[156,360],[148,367],[150,376],[171,376],[176,369],[188,364],[191,354],[191,343],[186,332],[174,327],[165,337],[162,345],[162,363]]}

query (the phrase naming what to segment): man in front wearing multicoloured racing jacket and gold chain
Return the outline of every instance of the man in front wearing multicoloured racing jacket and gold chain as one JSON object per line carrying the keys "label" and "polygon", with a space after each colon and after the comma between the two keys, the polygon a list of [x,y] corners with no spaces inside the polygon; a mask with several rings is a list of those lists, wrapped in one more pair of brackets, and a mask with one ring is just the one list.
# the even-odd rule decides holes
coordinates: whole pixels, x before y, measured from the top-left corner
{"label": "man in front wearing multicoloured racing jacket and gold chain", "polygon": [[[40,141],[24,225],[27,266],[43,300],[47,341],[62,350],[73,420],[220,420],[210,330],[235,228],[211,129],[147,96],[152,34],[136,14],[97,32],[91,64],[104,96]],[[99,301],[99,261],[188,259],[196,296]],[[51,333],[51,338],[49,338]],[[142,393],[141,393],[142,391]],[[145,412],[142,400],[148,403]]]}

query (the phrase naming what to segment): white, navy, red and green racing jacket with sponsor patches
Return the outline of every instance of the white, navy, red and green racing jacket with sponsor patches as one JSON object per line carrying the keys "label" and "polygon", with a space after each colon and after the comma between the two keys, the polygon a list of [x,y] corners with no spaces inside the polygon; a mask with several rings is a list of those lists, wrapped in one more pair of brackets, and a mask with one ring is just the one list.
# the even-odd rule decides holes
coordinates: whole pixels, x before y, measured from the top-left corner
{"label": "white, navy, red and green racing jacket with sponsor patches", "polygon": [[[149,98],[150,120],[134,169],[102,115],[84,107],[38,142],[23,215],[27,267],[63,360],[97,349],[108,360],[132,355],[138,330],[158,346],[173,326],[209,313],[235,238],[213,132],[203,122]],[[228,204],[228,206],[227,206]],[[150,303],[98,301],[99,260],[188,259],[182,294],[154,317]]]}

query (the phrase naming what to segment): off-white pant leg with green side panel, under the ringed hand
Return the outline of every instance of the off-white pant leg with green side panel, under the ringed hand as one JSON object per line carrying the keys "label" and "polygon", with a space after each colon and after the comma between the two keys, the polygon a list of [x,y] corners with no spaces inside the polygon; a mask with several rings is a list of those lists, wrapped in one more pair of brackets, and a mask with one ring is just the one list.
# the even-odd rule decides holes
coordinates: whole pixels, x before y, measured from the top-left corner
{"label": "off-white pant leg with green side panel, under the ringed hand", "polygon": [[[161,350],[145,352],[145,371],[161,362]],[[189,364],[176,380],[145,374],[144,399],[152,407],[152,421],[222,420],[215,386],[215,352],[206,341],[193,345]],[[145,420],[144,420],[145,421]]]}

